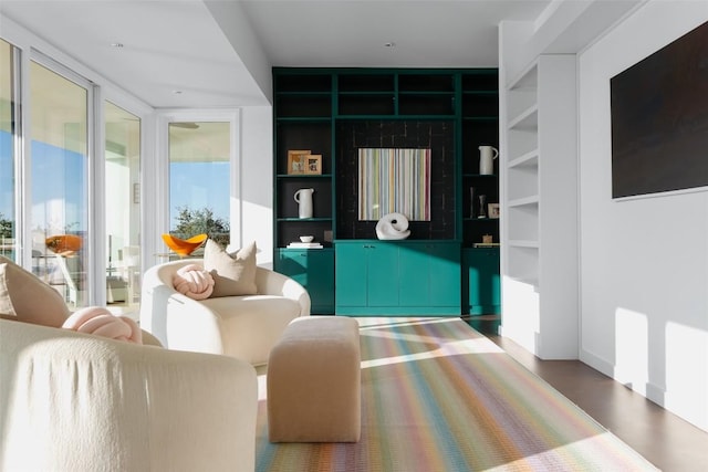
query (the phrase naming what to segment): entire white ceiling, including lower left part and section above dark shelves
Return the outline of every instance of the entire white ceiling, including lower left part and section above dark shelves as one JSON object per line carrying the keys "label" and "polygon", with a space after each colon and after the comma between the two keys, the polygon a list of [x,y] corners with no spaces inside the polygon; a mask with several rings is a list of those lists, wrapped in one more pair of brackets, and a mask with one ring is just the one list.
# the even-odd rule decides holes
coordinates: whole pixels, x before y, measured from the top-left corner
{"label": "entire white ceiling, including lower left part and section above dark shelves", "polygon": [[0,34],[9,19],[155,107],[263,105],[275,65],[497,66],[498,23],[550,3],[2,0]]}

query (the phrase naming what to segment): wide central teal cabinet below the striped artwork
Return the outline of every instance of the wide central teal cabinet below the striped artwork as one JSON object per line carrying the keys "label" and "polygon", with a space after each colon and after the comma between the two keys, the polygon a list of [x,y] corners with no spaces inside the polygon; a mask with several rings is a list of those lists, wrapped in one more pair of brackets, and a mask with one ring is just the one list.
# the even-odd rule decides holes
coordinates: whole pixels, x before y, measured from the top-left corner
{"label": "wide central teal cabinet below the striped artwork", "polygon": [[335,243],[339,315],[460,315],[456,242]]}

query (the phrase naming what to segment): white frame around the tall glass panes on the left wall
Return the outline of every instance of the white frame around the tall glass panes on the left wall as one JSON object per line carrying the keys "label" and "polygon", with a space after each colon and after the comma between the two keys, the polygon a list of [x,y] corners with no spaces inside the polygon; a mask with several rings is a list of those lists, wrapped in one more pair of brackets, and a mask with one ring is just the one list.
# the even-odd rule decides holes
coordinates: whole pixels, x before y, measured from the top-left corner
{"label": "white frame around the tall glass panes on the left wall", "polygon": [[[14,118],[15,118],[15,132],[14,132],[14,178],[15,178],[15,199],[14,199],[14,221],[17,229],[14,231],[15,241],[18,242],[18,249],[15,252],[15,261],[18,264],[31,269],[32,265],[32,248],[28,241],[31,241],[30,225],[28,224],[29,206],[31,204],[31,181],[29,177],[29,159],[30,159],[30,87],[29,87],[29,71],[31,61],[35,61],[50,69],[51,71],[60,74],[61,76],[76,82],[79,85],[86,87],[88,84],[90,98],[87,99],[87,112],[93,114],[93,118],[88,119],[87,128],[93,126],[93,129],[88,132],[87,136],[87,154],[88,154],[88,196],[90,207],[87,229],[96,238],[91,238],[91,262],[86,263],[86,269],[92,276],[88,277],[88,303],[96,305],[105,305],[106,293],[104,290],[105,279],[100,274],[105,274],[105,261],[104,255],[107,250],[105,238],[105,221],[103,220],[103,206],[105,202],[102,192],[97,192],[96,189],[103,188],[105,178],[103,156],[105,151],[104,144],[104,130],[103,130],[103,102],[111,101],[115,105],[133,113],[140,117],[140,134],[144,137],[140,143],[140,155],[143,156],[143,168],[140,171],[140,189],[144,188],[143,182],[146,180],[145,164],[146,156],[154,156],[156,145],[154,141],[156,125],[155,125],[155,108],[147,103],[140,101],[134,95],[128,94],[123,88],[119,88],[113,84],[110,80],[88,69],[86,65],[76,62],[73,57],[66,55],[61,50],[56,49],[53,44],[48,43],[43,39],[37,36],[33,32],[24,29],[18,23],[13,22],[9,18],[2,18],[2,32],[0,38],[10,43],[14,49],[14,69],[13,69],[13,85],[14,85]],[[96,161],[96,156],[101,156],[100,161]],[[150,161],[156,159],[149,159]],[[165,179],[162,176],[155,174],[148,175],[153,181],[155,179]],[[145,199],[140,199],[145,201]],[[140,261],[144,262],[144,266],[149,263],[146,258],[148,254],[154,254],[154,247],[150,247],[152,239],[146,232],[148,225],[146,214],[150,214],[143,206],[140,216],[140,225],[143,228],[140,238]],[[149,218],[149,221],[154,221],[154,218]]]}

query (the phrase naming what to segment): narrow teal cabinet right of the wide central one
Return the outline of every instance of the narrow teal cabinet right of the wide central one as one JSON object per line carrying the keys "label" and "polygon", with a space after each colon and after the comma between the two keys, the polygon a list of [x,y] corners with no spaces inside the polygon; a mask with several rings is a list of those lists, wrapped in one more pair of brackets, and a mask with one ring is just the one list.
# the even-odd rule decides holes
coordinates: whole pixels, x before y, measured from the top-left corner
{"label": "narrow teal cabinet right of the wide central one", "polygon": [[466,313],[487,315],[501,313],[499,249],[477,248],[462,251],[464,284],[467,289]]}

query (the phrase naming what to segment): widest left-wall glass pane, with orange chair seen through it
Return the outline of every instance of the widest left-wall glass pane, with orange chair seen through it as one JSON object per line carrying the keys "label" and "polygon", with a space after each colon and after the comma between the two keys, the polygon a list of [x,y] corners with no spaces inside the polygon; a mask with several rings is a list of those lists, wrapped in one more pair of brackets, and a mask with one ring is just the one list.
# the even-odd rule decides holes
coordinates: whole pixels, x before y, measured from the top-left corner
{"label": "widest left-wall glass pane, with orange chair seen through it", "polygon": [[88,301],[88,90],[30,63],[30,218],[39,275]]}

